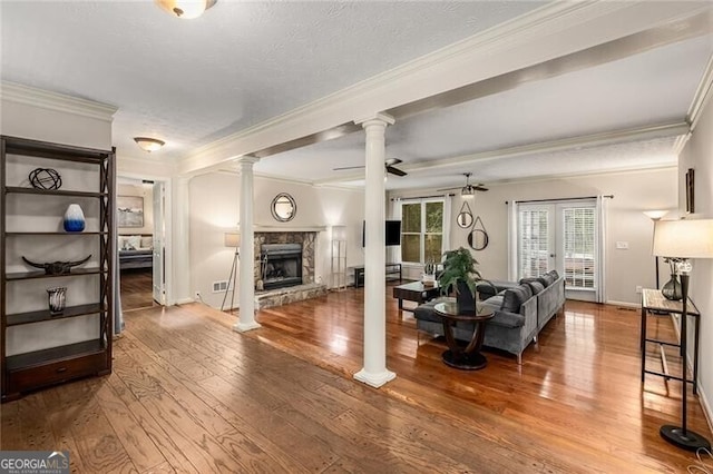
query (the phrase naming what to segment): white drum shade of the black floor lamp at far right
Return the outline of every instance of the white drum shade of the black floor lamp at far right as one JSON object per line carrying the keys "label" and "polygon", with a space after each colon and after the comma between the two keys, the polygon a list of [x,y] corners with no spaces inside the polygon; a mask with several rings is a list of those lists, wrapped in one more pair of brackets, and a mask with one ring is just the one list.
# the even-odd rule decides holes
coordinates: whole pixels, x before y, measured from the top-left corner
{"label": "white drum shade of the black floor lamp at far right", "polygon": [[713,219],[656,220],[653,254],[658,257],[713,258]]}

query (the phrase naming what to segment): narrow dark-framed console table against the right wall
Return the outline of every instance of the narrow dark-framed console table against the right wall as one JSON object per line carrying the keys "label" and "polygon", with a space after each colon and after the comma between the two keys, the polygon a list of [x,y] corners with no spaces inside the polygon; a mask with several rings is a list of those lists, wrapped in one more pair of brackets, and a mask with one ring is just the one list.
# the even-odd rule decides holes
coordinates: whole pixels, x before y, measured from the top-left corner
{"label": "narrow dark-framed console table against the right wall", "polygon": [[[646,334],[646,316],[647,314],[653,314],[661,317],[661,314],[665,314],[667,316],[668,313],[673,314],[683,314],[683,304],[681,302],[672,302],[670,299],[664,298],[661,290],[658,289],[648,289],[644,288],[642,290],[642,333],[641,333],[641,352],[642,352],[642,383],[644,382],[644,376],[646,374],[657,375],[660,377],[664,377],[666,379],[674,379],[686,382],[693,385],[693,393],[697,393],[697,378],[699,378],[699,328],[701,324],[701,313],[699,308],[695,307],[691,298],[688,298],[688,304],[686,308],[688,317],[693,317],[695,319],[695,330],[694,330],[694,343],[693,343],[693,379],[687,377],[687,374],[681,374],[681,376],[675,376],[668,374],[668,366],[666,363],[666,354],[664,353],[663,346],[672,346],[681,348],[680,342],[670,342],[670,340],[661,340],[655,338],[649,338]],[[686,337],[685,334],[682,334],[681,337]],[[658,344],[661,352],[661,362],[663,372],[648,371],[646,368],[646,343],[655,343]],[[685,354],[681,354],[682,357],[685,357]]]}

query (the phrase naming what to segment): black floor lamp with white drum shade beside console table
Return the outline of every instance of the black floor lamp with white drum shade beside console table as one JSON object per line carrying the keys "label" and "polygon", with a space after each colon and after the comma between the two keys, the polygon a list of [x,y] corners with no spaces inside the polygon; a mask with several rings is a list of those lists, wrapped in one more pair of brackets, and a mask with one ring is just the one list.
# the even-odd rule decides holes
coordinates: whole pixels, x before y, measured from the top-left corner
{"label": "black floor lamp with white drum shade beside console table", "polygon": [[[681,366],[682,366],[682,395],[681,395],[681,426],[664,425],[661,427],[661,436],[668,443],[688,451],[700,447],[711,448],[711,443],[700,434],[692,432],[686,426],[687,402],[687,369],[686,369],[686,328],[688,306],[688,283],[692,265],[690,258],[713,258],[713,219],[695,220],[657,220],[654,224],[654,255],[678,259],[678,273],[681,274],[681,289],[683,293],[683,308],[681,313]],[[642,357],[645,357],[642,354]]]}

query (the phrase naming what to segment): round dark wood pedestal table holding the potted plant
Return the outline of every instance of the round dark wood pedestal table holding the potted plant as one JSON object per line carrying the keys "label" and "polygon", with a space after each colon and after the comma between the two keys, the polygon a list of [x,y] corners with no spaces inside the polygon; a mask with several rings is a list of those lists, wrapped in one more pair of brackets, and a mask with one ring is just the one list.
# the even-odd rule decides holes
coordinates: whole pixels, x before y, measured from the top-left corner
{"label": "round dark wood pedestal table holding the potted plant", "polygon": [[[485,335],[485,325],[494,315],[494,310],[480,303],[476,304],[476,312],[461,314],[458,310],[456,300],[439,303],[433,308],[443,322],[443,334],[448,350],[441,356],[443,363],[462,371],[478,371],[488,364],[486,356],[480,354],[482,347],[482,336]],[[453,326],[458,322],[468,322],[473,324],[472,336],[466,345],[459,343],[453,337]]]}

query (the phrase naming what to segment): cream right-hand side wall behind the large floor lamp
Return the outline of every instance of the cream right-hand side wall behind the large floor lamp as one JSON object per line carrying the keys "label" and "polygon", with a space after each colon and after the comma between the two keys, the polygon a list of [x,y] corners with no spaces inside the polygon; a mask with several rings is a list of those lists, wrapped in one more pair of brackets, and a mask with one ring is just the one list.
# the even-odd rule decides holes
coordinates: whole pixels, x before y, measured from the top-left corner
{"label": "cream right-hand side wall behind the large floor lamp", "polygon": [[[678,157],[680,209],[685,210],[685,174],[695,170],[696,218],[713,218],[713,102],[709,100],[700,121]],[[713,260],[694,260],[691,273],[691,298],[701,312],[701,350],[699,383],[701,401],[713,425]],[[690,333],[693,335],[693,333]],[[693,339],[688,339],[693,340]],[[691,346],[688,346],[692,348]],[[691,357],[693,353],[690,353]]]}

